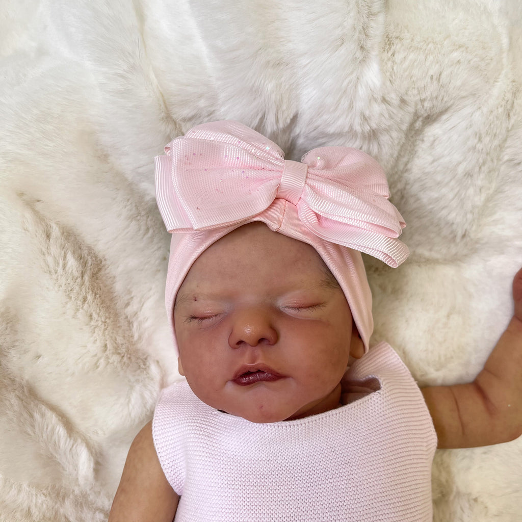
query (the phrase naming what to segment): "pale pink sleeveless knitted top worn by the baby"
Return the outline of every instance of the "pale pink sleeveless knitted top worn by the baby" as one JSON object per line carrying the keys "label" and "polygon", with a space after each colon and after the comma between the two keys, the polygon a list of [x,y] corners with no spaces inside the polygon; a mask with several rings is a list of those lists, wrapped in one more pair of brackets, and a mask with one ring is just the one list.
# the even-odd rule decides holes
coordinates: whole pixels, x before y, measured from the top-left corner
{"label": "pale pink sleeveless knitted top worn by the baby", "polygon": [[387,343],[343,380],[380,389],[340,408],[256,424],[210,408],[185,382],[153,419],[158,457],[181,495],[176,521],[428,522],[436,435],[422,394]]}

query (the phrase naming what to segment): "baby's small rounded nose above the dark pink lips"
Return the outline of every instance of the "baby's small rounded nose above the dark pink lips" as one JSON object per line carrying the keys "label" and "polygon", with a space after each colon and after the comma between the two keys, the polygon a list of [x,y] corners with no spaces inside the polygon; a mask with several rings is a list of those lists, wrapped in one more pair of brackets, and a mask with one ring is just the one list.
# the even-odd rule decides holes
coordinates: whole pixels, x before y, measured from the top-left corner
{"label": "baby's small rounded nose above the dark pink lips", "polygon": [[275,345],[278,334],[270,321],[270,314],[261,309],[247,309],[234,314],[229,336],[231,348],[241,346]]}

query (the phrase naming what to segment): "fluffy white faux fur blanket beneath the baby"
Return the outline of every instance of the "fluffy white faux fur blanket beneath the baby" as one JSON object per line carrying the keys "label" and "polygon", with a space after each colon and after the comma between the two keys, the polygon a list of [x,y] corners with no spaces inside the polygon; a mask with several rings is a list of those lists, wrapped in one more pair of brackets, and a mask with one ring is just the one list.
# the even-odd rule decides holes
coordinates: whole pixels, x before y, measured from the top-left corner
{"label": "fluffy white faux fur blanket beneath the baby", "polygon": [[[367,259],[374,340],[420,384],[476,375],[522,264],[518,0],[2,4],[2,522],[105,520],[178,377],[152,161],[198,123],[376,157],[411,256]],[[438,452],[434,519],[519,521],[521,460],[522,440]]]}

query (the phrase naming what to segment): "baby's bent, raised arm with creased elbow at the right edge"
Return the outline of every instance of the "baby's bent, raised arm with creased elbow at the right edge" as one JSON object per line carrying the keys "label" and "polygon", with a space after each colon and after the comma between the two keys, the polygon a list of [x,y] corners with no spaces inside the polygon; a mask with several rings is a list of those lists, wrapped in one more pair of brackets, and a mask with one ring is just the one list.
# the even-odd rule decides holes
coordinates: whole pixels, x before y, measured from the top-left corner
{"label": "baby's bent, raised arm with creased elbow at the right edge", "polygon": [[513,318],[472,383],[422,389],[440,448],[498,444],[522,434],[522,269],[513,299]]}

